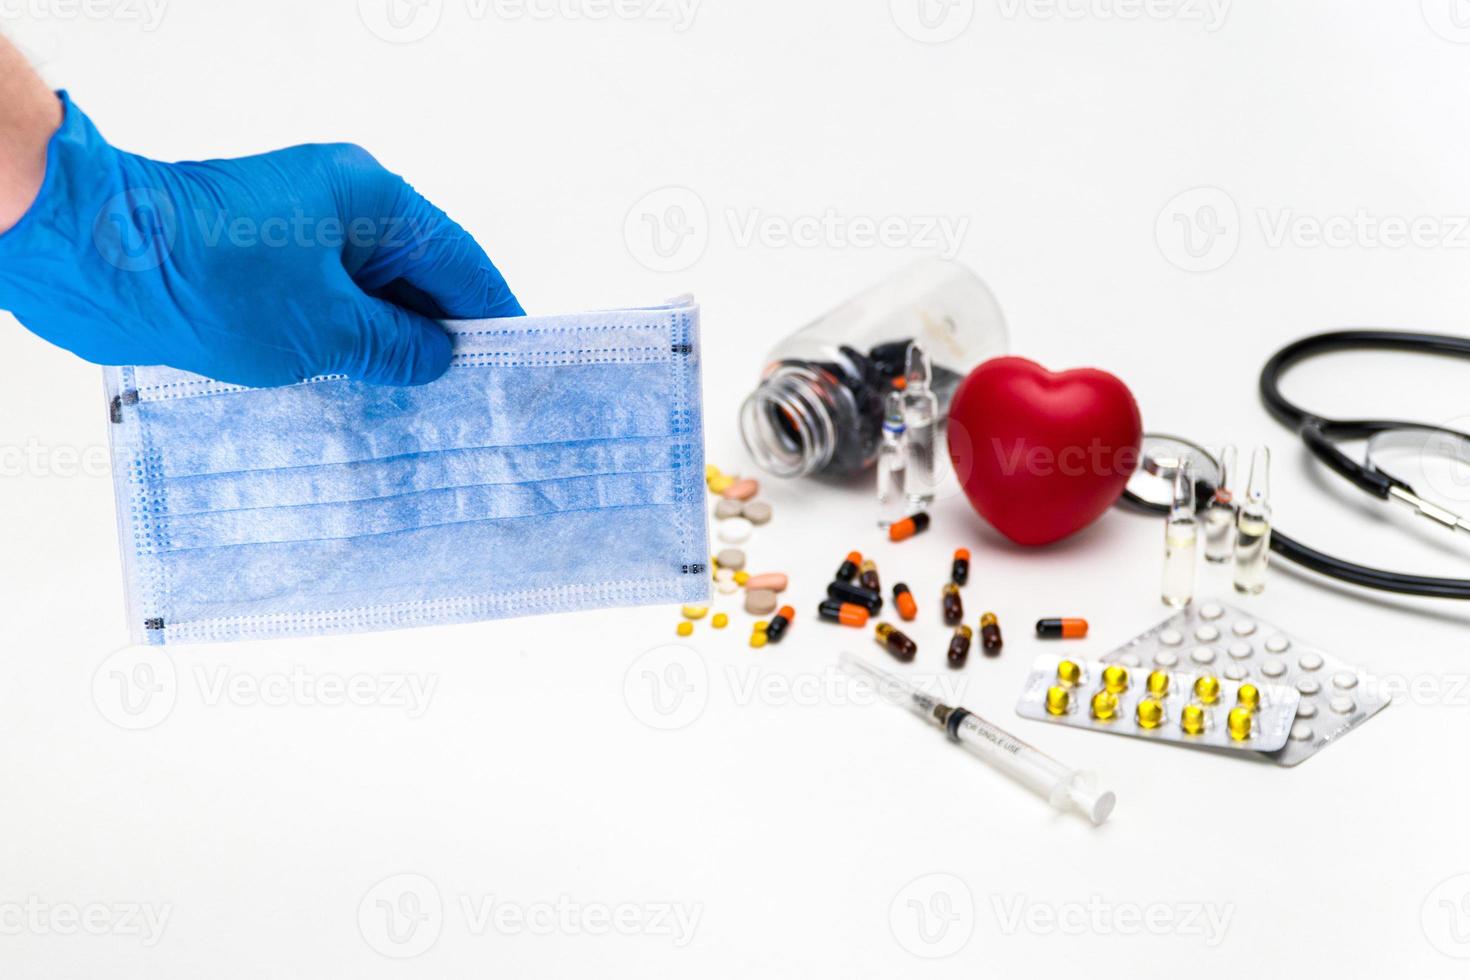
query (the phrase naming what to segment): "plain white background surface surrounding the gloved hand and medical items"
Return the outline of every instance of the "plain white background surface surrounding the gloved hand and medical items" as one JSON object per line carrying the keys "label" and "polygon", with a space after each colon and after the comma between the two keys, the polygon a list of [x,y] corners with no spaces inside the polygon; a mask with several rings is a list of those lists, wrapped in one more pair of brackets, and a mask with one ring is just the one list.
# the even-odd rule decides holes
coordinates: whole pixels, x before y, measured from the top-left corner
{"label": "plain white background surface surrounding the gloved hand and medical items", "polygon": [[[0,9],[125,148],[357,141],[470,228],[531,311],[697,292],[710,458],[728,469],[748,467],[734,416],[763,351],[935,250],[750,241],[745,223],[942,219],[963,225],[957,254],[995,289],[1016,353],[1116,372],[1154,429],[1269,442],[1279,523],[1308,542],[1464,574],[1461,542],[1323,476],[1255,398],[1261,361],[1313,329],[1466,331],[1460,0],[935,0],[932,31],[917,0],[706,0],[689,22],[632,0],[613,15],[428,0],[400,10],[403,29],[382,0],[154,1]],[[692,198],[647,198],[667,187]],[[1217,191],[1176,201],[1201,187]],[[670,204],[694,235],[659,257],[644,215],[678,220]],[[1274,234],[1360,213],[1335,245]],[[1194,256],[1175,215],[1194,222]],[[1417,217],[1436,241],[1370,234]],[[1111,513],[1022,552],[950,498],[933,532],[889,547],[866,492],[786,483],[767,486],[776,519],[750,554],[792,574],[800,619],[760,652],[742,613],[725,633],[701,624],[675,658],[682,683],[657,692],[673,716],[648,683],[681,674],[645,651],[675,639],[676,610],[651,608],[178,648],[153,664],[150,727],[126,730],[115,720],[140,716],[113,685],[128,664],[109,660],[125,624],[98,370],[0,326],[6,977],[976,977],[1061,961],[1091,977],[1464,976],[1452,955],[1470,942],[1449,929],[1470,939],[1470,905],[1455,911],[1470,879],[1454,877],[1470,873],[1460,605],[1274,570],[1251,604],[1263,619],[1430,686],[1279,770],[1014,716],[1038,616],[1092,619],[1075,649],[1094,655],[1163,616],[1152,520]],[[1466,370],[1339,357],[1289,388],[1324,413],[1452,420]],[[1098,770],[1120,801],[1105,827],[1054,815],[901,713],[808,689],[844,646],[876,654],[813,621],[842,554],[914,585],[916,670],[932,670],[932,597],[960,545],[970,611],[997,610],[1008,636],[961,674],[963,702]],[[293,674],[379,695],[250,693]],[[422,711],[391,695],[406,677],[432,685]],[[229,679],[241,692],[218,695]],[[670,717],[685,724],[648,724]],[[407,892],[419,930],[390,934],[378,901]],[[916,939],[911,899],[950,902],[938,945]],[[629,904],[644,927],[510,934],[478,918],[485,901]],[[98,902],[168,921],[153,937],[116,918],[59,934],[66,909]],[[50,917],[16,918],[28,904]],[[660,905],[697,914],[692,936],[653,921]],[[1163,934],[1129,918],[1150,909],[1173,923]],[[1223,934],[1195,911],[1227,917]]]}

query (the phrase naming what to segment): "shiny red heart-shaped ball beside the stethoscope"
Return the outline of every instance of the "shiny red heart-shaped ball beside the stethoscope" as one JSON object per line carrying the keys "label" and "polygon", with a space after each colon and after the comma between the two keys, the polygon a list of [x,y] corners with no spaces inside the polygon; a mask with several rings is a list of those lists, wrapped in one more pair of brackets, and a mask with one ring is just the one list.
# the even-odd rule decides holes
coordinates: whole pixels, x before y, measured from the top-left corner
{"label": "shiny red heart-shaped ball beside the stethoscope", "polygon": [[980,517],[1020,545],[1082,530],[1123,494],[1144,423],[1127,386],[1094,370],[988,360],[950,406],[950,458]]}

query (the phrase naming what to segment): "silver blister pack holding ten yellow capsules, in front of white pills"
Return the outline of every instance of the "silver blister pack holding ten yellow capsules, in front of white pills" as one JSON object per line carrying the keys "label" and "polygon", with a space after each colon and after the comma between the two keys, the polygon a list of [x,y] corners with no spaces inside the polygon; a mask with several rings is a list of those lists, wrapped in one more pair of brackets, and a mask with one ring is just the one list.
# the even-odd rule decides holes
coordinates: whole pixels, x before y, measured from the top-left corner
{"label": "silver blister pack holding ten yellow capsules, in front of white pills", "polygon": [[1023,718],[1236,752],[1286,745],[1301,693],[1208,671],[1038,657],[1020,692]]}

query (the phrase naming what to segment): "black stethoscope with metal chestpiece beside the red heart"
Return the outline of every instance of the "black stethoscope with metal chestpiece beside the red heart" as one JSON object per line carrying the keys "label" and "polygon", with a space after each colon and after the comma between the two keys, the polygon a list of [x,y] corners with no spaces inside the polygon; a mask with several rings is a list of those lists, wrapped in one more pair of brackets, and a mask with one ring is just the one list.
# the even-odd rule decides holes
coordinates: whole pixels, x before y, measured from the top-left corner
{"label": "black stethoscope with metal chestpiece beside the red heart", "polygon": [[[1470,435],[1423,422],[1327,419],[1301,408],[1282,394],[1280,379],[1294,364],[1319,354],[1358,350],[1470,357],[1470,338],[1404,331],[1335,331],[1302,338],[1279,350],[1261,369],[1260,392],[1267,411],[1301,436],[1317,460],[1358,489],[1377,500],[1410,507],[1416,514],[1449,530],[1470,532],[1470,520],[1427,500],[1402,472],[1392,472],[1392,458],[1401,453],[1413,453],[1419,458],[1439,457],[1470,472]],[[1338,445],[1355,439],[1367,441],[1361,461]],[[1222,482],[1222,466],[1216,454],[1189,439],[1151,433],[1144,436],[1139,469],[1123,494],[1125,502],[1152,514],[1167,513],[1169,485],[1185,463],[1194,476],[1200,505],[1214,500]],[[1441,579],[1355,564],[1304,545],[1279,527],[1272,532],[1272,551],[1286,561],[1369,589],[1470,599],[1470,579]]]}

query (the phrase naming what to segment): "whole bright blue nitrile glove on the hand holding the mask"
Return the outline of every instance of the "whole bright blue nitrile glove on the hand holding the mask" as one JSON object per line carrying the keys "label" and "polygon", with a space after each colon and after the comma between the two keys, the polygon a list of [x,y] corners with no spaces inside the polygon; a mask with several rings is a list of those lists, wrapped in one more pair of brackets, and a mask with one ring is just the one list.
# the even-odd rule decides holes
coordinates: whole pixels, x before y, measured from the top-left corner
{"label": "whole bright blue nitrile glove on the hand holding the mask", "polygon": [[450,363],[429,317],[523,313],[475,239],[359,147],[159,163],[62,104],[41,191],[0,235],[0,309],[90,361],[419,385]]}

